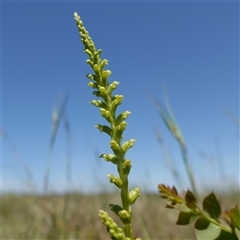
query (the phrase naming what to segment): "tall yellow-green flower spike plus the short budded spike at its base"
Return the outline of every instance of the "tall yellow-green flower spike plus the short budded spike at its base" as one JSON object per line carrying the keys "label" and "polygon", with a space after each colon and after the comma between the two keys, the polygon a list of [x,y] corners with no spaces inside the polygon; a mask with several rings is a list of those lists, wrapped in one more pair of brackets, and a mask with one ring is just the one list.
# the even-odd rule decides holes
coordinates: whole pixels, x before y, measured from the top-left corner
{"label": "tall yellow-green flower spike plus the short budded spike at its base", "polygon": [[100,132],[105,132],[111,138],[110,147],[114,154],[102,154],[100,158],[103,158],[107,162],[112,162],[117,165],[119,176],[108,174],[110,182],[115,184],[121,189],[121,199],[123,207],[111,204],[111,210],[117,214],[121,219],[125,235],[115,222],[104,211],[99,211],[99,217],[102,219],[104,225],[112,236],[112,239],[116,240],[132,240],[132,212],[131,205],[134,204],[138,196],[140,195],[140,189],[135,188],[128,192],[128,175],[132,167],[131,161],[125,158],[127,151],[133,147],[136,142],[135,139],[130,139],[122,144],[123,132],[126,129],[127,122],[125,121],[131,112],[125,111],[120,114],[116,114],[117,107],[123,101],[123,95],[112,95],[116,90],[119,82],[108,82],[108,78],[111,75],[110,70],[105,70],[104,67],[108,65],[108,60],[101,60],[102,50],[97,50],[94,42],[89,36],[88,31],[83,26],[82,21],[77,13],[74,13],[74,19],[77,23],[81,41],[84,44],[84,52],[89,56],[86,61],[93,70],[94,73],[87,74],[87,78],[90,80],[88,86],[93,88],[93,95],[101,100],[92,100],[90,103],[100,108],[100,113],[104,119],[110,124],[109,126],[97,124],[95,127]]}

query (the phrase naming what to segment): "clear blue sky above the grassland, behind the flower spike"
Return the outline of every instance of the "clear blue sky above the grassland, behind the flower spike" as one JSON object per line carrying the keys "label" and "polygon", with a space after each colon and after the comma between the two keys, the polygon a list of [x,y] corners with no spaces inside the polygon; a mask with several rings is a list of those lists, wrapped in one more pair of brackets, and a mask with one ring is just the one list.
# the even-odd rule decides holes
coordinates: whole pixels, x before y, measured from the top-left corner
{"label": "clear blue sky above the grassland, behind the flower spike", "polygon": [[[179,184],[166,166],[157,127],[184,188],[190,187],[179,147],[151,103],[146,89],[169,101],[185,138],[199,188],[239,184],[239,3],[237,2],[2,2],[2,190],[25,191],[30,180],[42,191],[49,158],[52,112],[70,92],[50,169],[50,189],[115,189],[106,175],[109,138],[87,87],[87,55],[73,13],[78,12],[102,58],[110,81],[129,110],[124,140],[134,138],[131,187],[157,192],[157,184]],[[228,114],[227,114],[228,112]],[[230,115],[229,115],[230,113]],[[71,144],[67,134],[71,134]],[[71,187],[66,181],[70,153]],[[221,167],[221,170],[220,170]]]}

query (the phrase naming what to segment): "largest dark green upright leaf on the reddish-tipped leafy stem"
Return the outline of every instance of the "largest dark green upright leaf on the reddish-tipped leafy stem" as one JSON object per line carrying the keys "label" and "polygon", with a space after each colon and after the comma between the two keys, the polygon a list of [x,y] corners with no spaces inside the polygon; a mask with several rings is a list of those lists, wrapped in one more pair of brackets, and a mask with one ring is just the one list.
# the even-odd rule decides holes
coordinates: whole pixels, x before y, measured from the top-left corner
{"label": "largest dark green upright leaf on the reddish-tipped leafy stem", "polygon": [[214,195],[214,193],[209,194],[203,200],[203,209],[209,213],[210,217],[218,219],[221,214],[221,206]]}

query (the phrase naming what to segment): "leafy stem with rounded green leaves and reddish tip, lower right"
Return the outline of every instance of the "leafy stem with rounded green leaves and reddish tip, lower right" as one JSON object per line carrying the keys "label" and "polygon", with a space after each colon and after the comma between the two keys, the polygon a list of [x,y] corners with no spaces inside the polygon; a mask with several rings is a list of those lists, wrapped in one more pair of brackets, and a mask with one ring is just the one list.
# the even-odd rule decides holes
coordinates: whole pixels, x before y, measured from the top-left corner
{"label": "leafy stem with rounded green leaves and reddish tip, lower right", "polygon": [[224,214],[214,193],[206,196],[201,205],[189,190],[182,198],[175,187],[160,184],[158,189],[161,198],[168,199],[166,207],[179,211],[176,224],[187,225],[196,219],[194,228],[198,240],[238,239],[240,213],[237,206]]}

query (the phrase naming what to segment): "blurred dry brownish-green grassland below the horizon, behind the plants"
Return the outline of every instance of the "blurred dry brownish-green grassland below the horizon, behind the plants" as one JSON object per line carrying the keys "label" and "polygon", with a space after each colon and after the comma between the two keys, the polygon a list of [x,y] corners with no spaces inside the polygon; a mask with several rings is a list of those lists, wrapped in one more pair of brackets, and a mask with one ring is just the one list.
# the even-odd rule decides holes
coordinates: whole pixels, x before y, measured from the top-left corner
{"label": "blurred dry brownish-green grassland below the horizon, behind the plants", "polygon": [[[205,194],[206,195],[206,194]],[[237,192],[216,194],[223,209],[239,204]],[[119,202],[118,193],[36,196],[5,194],[1,206],[1,239],[111,239],[99,209]],[[142,239],[196,239],[193,226],[175,225],[178,212],[165,208],[158,194],[142,193],[133,206],[133,231]],[[109,211],[108,211],[109,212]],[[111,214],[111,213],[110,213]],[[111,214],[121,226],[119,219]],[[191,224],[193,225],[193,223]]]}

